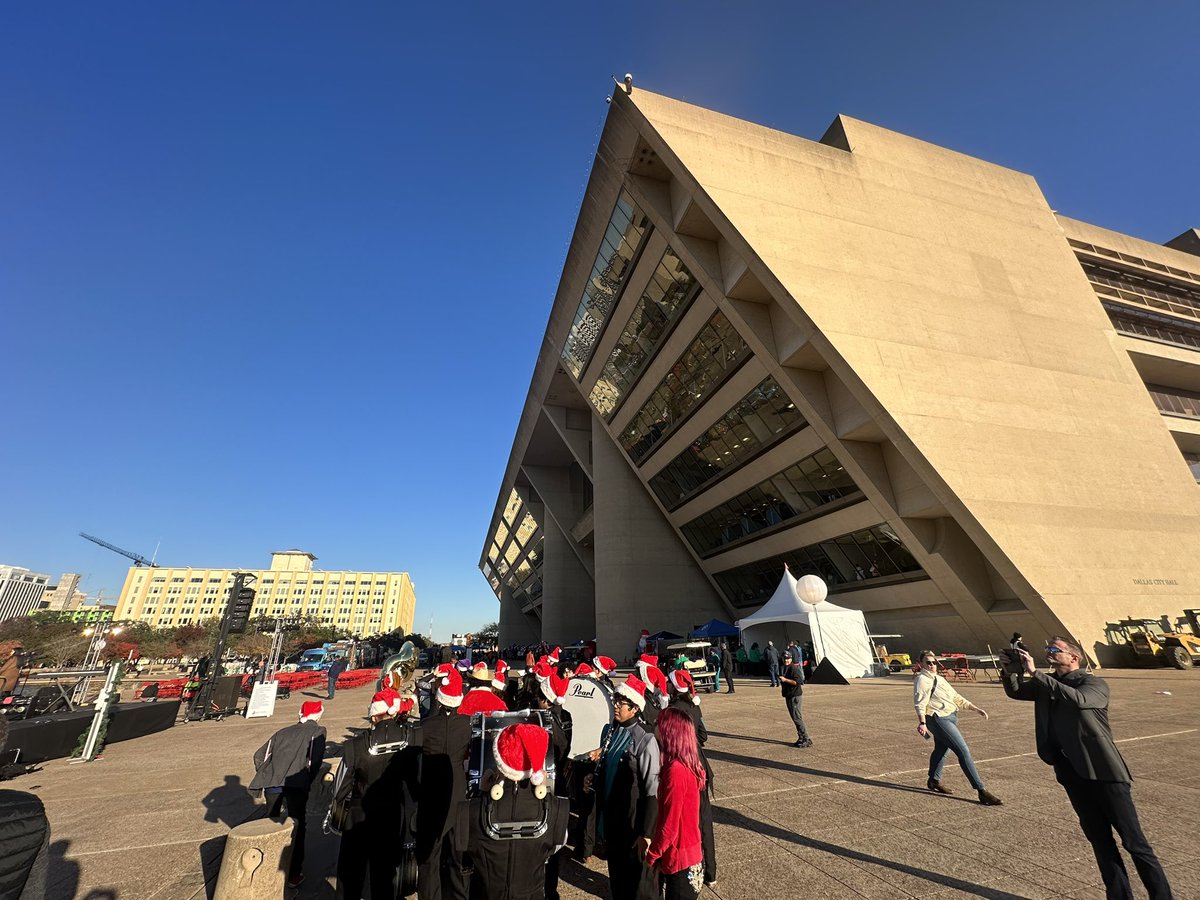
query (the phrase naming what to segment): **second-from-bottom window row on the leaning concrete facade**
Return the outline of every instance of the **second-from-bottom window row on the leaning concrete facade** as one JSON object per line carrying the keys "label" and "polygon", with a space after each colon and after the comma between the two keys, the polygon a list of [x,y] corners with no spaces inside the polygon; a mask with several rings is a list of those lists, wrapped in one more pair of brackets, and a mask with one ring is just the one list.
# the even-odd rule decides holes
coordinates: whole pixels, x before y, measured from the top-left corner
{"label": "second-from-bottom window row on the leaning concrete facade", "polygon": [[683,526],[701,556],[862,491],[828,448],[821,448],[778,475],[726,500]]}

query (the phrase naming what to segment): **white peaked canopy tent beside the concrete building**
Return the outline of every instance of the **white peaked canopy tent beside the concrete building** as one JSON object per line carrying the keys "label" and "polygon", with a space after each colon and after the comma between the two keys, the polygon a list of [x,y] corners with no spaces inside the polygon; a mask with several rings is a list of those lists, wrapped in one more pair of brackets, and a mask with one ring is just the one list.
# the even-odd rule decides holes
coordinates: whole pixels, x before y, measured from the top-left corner
{"label": "white peaked canopy tent beside the concrete building", "polygon": [[796,596],[796,578],[785,569],[784,578],[770,600],[757,612],[739,619],[737,626],[744,641],[746,630],[756,625],[788,622],[809,626],[812,632],[812,649],[816,652],[814,662],[828,658],[846,678],[863,678],[871,674],[874,662],[871,638],[862,610],[847,610],[828,600],[822,600],[816,606],[802,602]]}

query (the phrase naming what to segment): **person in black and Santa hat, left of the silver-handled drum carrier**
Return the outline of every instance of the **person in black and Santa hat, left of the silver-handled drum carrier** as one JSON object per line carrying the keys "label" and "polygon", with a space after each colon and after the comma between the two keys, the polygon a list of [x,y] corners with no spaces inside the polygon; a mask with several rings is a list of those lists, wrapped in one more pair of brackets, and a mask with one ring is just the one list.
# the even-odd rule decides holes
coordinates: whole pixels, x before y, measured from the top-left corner
{"label": "person in black and Santa hat, left of the silver-handled drum carrier", "polygon": [[420,900],[467,900],[454,824],[467,798],[463,761],[470,748],[470,716],[458,715],[462,677],[454,664],[434,670],[433,709],[421,721],[421,787],[416,805],[416,895]]}

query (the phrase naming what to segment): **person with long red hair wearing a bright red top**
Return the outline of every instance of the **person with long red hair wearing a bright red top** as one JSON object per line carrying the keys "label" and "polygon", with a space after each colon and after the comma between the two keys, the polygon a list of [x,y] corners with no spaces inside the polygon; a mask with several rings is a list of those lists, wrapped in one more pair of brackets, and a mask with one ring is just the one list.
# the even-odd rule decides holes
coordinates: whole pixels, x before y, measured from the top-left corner
{"label": "person with long red hair wearing a bright red top", "polygon": [[659,816],[646,864],[658,866],[667,900],[695,900],[704,887],[704,852],[700,844],[700,762],[696,728],[671,707],[659,714]]}

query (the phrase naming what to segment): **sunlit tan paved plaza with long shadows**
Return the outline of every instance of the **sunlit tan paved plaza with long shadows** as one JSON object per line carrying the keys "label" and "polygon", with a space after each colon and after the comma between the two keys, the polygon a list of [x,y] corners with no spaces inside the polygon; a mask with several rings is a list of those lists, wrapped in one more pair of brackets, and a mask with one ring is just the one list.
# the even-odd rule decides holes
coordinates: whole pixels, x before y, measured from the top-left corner
{"label": "sunlit tan paved plaza with long shadows", "polygon": [[[1200,898],[1200,671],[1103,674],[1146,833],[1176,896]],[[1003,806],[974,803],[953,763],[944,780],[955,796],[924,790],[930,745],[916,732],[907,674],[810,685],[810,750],[788,745],[794,737],[786,710],[766,680],[739,680],[732,696],[706,695],[719,881],[703,896],[1102,898],[1066,794],[1034,752],[1033,704],[1008,700],[997,683],[958,686],[991,714],[986,722],[966,714],[960,726]],[[370,697],[362,688],[326,703],[331,754],[349,726],[362,724]],[[274,719],[181,725],[114,744],[95,763],[55,761],[6,785],[46,802],[49,899],[205,898],[223,835],[262,815],[244,788],[253,776],[251,756],[295,720],[305,698],[282,701]],[[313,809],[307,880],[289,895],[334,896],[337,844],[319,826]],[[564,864],[563,896],[607,896],[601,865]],[[1145,896],[1140,884],[1135,890]]]}

